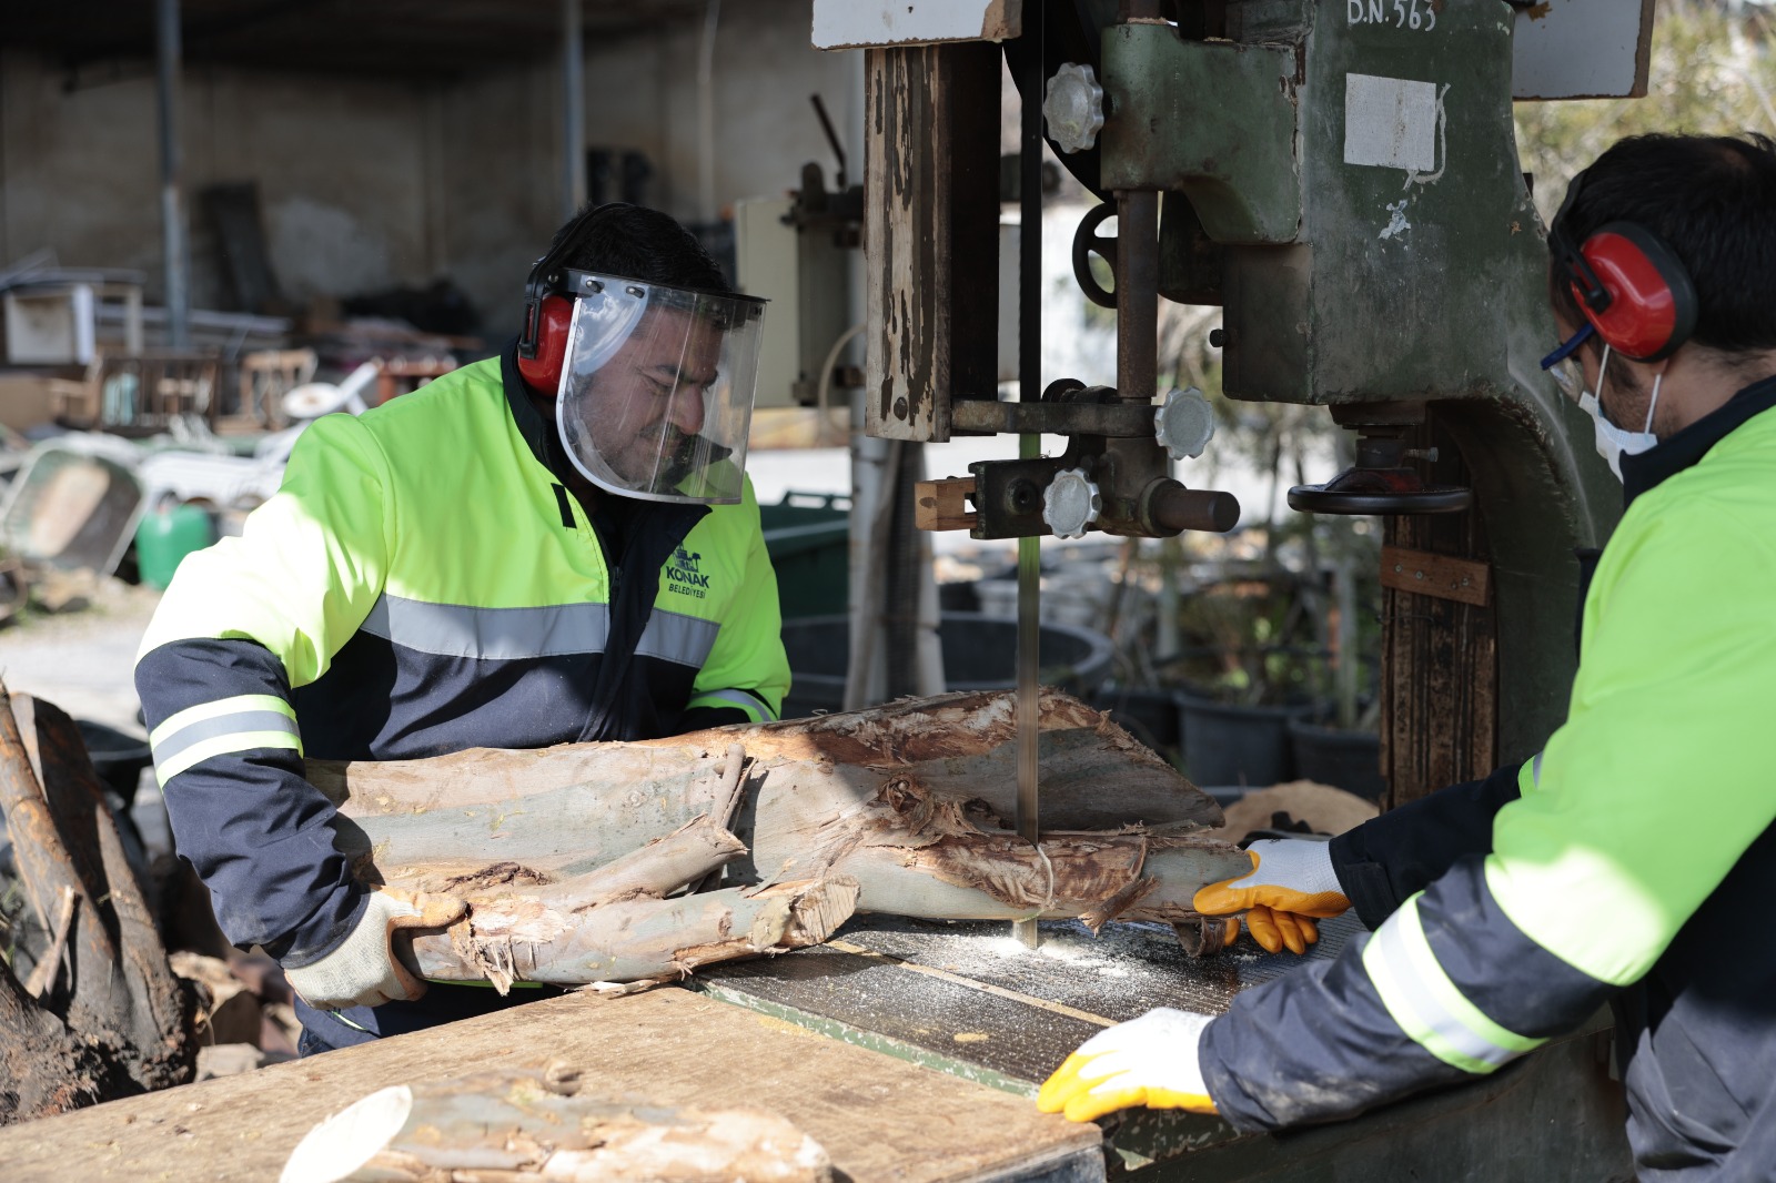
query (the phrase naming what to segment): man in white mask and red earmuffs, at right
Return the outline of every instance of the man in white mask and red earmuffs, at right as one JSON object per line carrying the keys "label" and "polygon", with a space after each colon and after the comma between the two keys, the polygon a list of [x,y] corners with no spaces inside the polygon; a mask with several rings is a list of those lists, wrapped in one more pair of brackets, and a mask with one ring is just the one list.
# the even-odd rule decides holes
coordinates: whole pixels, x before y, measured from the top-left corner
{"label": "man in white mask and red earmuffs, at right", "polygon": [[1240,1130],[1359,1114],[1616,1018],[1643,1179],[1776,1179],[1776,144],[1648,135],[1549,231],[1559,345],[1627,510],[1566,721],[1520,767],[1339,838],[1261,840],[1195,906],[1272,952],[1373,936],[1220,1018],[1149,1011],[1044,1084]]}

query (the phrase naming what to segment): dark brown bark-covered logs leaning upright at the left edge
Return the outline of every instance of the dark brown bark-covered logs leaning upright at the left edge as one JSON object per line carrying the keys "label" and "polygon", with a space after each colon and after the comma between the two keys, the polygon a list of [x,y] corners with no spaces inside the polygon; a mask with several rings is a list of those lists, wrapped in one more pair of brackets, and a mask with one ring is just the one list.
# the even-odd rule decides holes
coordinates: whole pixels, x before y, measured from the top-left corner
{"label": "dark brown bark-covered logs leaning upright at the left edge", "polygon": [[25,895],[55,933],[30,991],[0,975],[0,1124],[188,1080],[192,1011],[80,730],[4,687],[0,812]]}

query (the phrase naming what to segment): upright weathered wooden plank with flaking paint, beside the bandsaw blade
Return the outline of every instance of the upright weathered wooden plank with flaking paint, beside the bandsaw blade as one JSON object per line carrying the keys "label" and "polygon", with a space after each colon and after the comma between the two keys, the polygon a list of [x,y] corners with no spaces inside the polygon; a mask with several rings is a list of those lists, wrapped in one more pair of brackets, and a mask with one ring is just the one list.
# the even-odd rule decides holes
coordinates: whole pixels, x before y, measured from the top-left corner
{"label": "upright weathered wooden plank with flaking paint, beside the bandsaw blade", "polygon": [[1000,48],[865,53],[865,432],[950,439],[950,400],[998,382]]}

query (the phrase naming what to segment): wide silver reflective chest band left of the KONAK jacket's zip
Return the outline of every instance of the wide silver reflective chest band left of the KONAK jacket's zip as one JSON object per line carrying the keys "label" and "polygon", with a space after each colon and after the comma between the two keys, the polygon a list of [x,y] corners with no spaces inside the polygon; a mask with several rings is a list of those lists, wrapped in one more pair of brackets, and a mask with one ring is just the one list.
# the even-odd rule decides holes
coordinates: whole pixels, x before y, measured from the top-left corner
{"label": "wide silver reflective chest band left of the KONAK jacket's zip", "polygon": [[604,652],[611,609],[606,604],[467,607],[384,593],[359,627],[401,648],[439,657],[565,657]]}

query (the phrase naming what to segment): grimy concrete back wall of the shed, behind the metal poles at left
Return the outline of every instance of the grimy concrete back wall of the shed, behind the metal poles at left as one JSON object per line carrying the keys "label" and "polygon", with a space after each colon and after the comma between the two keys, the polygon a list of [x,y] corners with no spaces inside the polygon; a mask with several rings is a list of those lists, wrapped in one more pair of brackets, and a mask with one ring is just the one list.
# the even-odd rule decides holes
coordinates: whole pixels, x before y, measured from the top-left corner
{"label": "grimy concrete back wall of the shed, behind the metal poles at left", "polygon": [[[298,307],[428,277],[428,94],[414,85],[192,66],[179,108],[192,304],[229,307],[199,194],[258,181],[272,268]],[[64,92],[50,62],[0,60],[0,258],[135,266],[162,295],[160,158],[149,75]]]}

